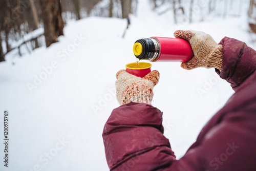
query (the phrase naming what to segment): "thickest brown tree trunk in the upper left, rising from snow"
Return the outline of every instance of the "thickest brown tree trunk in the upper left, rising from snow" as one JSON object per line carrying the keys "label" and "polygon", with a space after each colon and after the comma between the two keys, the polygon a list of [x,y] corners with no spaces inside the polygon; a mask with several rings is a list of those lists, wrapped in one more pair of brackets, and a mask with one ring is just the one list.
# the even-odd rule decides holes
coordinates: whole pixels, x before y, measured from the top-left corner
{"label": "thickest brown tree trunk in the upper left, rising from snow", "polygon": [[60,0],[40,0],[42,20],[44,21],[46,47],[63,35],[64,22],[61,16]]}

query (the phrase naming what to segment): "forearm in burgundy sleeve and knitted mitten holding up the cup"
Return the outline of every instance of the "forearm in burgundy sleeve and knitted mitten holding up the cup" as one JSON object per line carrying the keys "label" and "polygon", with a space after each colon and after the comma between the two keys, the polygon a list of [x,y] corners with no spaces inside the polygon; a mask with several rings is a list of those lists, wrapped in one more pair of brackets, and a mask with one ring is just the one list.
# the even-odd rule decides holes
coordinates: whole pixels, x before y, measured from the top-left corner
{"label": "forearm in burgundy sleeve and knitted mitten holding up the cup", "polygon": [[159,72],[143,78],[120,70],[117,100],[105,123],[103,141],[110,170],[158,170],[175,160],[168,139],[163,136],[162,112],[151,104]]}

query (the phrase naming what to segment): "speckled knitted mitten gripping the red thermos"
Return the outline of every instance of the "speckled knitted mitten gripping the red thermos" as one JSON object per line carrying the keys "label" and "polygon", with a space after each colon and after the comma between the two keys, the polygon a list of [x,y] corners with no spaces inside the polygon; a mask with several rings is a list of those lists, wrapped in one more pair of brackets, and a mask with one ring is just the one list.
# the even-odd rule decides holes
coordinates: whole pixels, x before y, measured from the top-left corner
{"label": "speckled knitted mitten gripping the red thermos", "polygon": [[212,37],[204,32],[199,31],[182,31],[174,32],[176,38],[187,40],[194,52],[194,57],[189,61],[182,62],[181,67],[186,70],[198,67],[216,68],[222,71],[222,45],[218,45]]}

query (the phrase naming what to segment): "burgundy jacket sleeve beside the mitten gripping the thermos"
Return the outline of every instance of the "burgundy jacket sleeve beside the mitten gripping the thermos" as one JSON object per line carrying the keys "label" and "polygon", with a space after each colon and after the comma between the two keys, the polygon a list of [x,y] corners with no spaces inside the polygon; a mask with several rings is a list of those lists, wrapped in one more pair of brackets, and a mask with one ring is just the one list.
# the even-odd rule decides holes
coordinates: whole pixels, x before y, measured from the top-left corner
{"label": "burgundy jacket sleeve beside the mitten gripping the thermos", "polygon": [[223,45],[223,60],[222,72],[217,70],[217,73],[237,91],[256,69],[256,51],[245,42],[229,37],[224,37],[219,44]]}

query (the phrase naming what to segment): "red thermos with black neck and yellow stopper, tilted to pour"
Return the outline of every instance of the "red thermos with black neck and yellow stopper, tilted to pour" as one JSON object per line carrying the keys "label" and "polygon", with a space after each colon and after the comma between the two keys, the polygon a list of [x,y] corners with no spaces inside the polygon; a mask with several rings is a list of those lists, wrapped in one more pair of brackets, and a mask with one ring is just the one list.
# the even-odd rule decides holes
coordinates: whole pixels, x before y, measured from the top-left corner
{"label": "red thermos with black neck and yellow stopper, tilted to pour", "polygon": [[185,62],[194,56],[189,42],[182,38],[150,37],[135,42],[134,55],[138,59]]}

